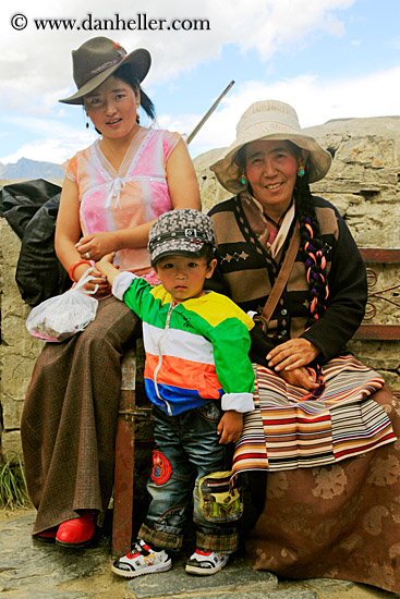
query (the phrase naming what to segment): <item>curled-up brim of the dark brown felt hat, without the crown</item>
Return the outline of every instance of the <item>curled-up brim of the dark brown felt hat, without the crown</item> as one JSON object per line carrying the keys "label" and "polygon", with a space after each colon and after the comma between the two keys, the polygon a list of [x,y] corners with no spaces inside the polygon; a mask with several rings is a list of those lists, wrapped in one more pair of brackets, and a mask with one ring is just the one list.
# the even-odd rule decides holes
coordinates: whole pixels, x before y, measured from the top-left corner
{"label": "curled-up brim of the dark brown felt hat, without the crown", "polygon": [[105,83],[105,81],[108,80],[108,77],[110,77],[120,66],[122,66],[122,64],[131,64],[135,76],[138,82],[142,83],[150,69],[151,57],[148,50],[145,48],[138,48],[130,54],[126,54],[118,64],[114,64],[113,66],[110,66],[109,69],[101,71],[98,75],[92,77],[87,83],[80,87],[75,94],[69,98],[59,100],[59,102],[83,105],[84,96],[90,94],[90,91],[94,91],[97,87],[99,87],[99,85]]}

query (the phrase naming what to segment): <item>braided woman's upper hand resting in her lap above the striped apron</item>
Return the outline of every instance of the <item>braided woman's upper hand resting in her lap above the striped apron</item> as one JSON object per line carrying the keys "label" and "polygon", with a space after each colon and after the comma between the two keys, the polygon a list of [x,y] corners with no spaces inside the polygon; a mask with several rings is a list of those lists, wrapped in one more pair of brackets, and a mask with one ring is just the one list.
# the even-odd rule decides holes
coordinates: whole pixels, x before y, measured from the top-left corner
{"label": "braided woman's upper hand resting in her lap above the striped apron", "polygon": [[277,345],[267,354],[269,368],[279,374],[308,366],[317,357],[319,350],[314,343],[304,338],[291,339]]}

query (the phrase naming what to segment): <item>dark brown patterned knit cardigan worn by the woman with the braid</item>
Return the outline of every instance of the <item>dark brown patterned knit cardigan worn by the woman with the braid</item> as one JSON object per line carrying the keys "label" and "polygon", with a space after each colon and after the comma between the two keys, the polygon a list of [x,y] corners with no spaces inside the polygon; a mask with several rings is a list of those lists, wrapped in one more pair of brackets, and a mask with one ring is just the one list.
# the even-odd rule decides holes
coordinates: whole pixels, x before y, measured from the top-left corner
{"label": "dark brown patterned knit cardigan worn by the woman with the braid", "polygon": [[[270,319],[268,335],[259,334],[259,329],[254,331],[251,357],[258,364],[265,364],[264,356],[275,345],[296,337],[314,343],[323,360],[328,362],[342,353],[364,316],[367,286],[360,252],[335,206],[320,197],[313,196],[313,199],[327,259],[329,296],[326,310],[305,330],[310,318],[308,284],[300,250]],[[209,216],[214,221],[220,256],[211,289],[227,293],[244,311],[260,314],[292,231],[275,261],[252,232],[238,197],[217,204]]]}

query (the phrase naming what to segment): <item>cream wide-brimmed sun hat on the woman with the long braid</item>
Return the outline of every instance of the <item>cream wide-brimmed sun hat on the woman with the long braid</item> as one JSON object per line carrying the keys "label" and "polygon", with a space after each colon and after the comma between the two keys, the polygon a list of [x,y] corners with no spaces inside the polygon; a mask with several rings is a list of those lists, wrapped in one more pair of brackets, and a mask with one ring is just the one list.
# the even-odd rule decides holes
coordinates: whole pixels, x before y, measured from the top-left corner
{"label": "cream wide-brimmed sun hat on the woman with the long braid", "polygon": [[229,192],[238,194],[246,188],[246,184],[241,183],[243,173],[235,158],[243,146],[257,140],[289,140],[306,149],[308,159],[305,169],[310,183],[323,179],[330,168],[330,154],[314,137],[302,133],[298,114],[291,106],[278,100],[254,102],[242,114],[233,144],[209,167]]}

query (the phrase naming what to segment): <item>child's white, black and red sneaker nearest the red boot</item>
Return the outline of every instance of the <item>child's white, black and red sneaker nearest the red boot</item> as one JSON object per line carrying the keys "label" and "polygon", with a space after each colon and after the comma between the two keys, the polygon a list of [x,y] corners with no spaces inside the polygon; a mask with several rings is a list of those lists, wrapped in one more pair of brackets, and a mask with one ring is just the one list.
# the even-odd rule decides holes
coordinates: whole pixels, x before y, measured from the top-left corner
{"label": "child's white, black and red sneaker nearest the red boot", "polygon": [[111,570],[120,576],[133,578],[142,574],[167,572],[171,567],[172,561],[166,551],[156,551],[143,539],[137,539],[130,553],[116,560]]}

